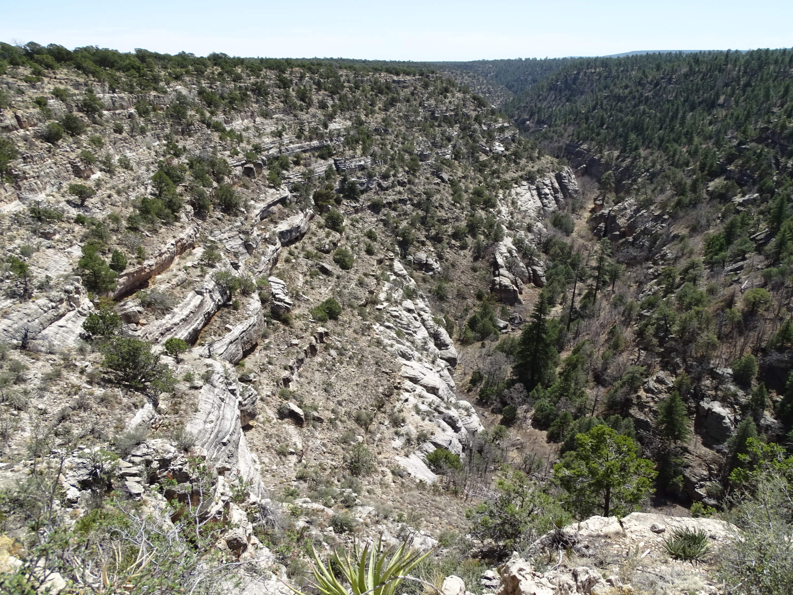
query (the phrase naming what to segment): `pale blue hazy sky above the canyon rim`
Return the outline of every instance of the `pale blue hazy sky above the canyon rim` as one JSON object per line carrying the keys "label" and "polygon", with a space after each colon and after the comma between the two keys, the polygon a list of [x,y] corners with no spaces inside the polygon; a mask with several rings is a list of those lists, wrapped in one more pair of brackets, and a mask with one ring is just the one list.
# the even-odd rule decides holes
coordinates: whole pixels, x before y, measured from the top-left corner
{"label": "pale blue hazy sky above the canyon rim", "polygon": [[[4,6],[5,5],[5,6]],[[793,2],[11,2],[0,40],[232,56],[468,60],[793,46]]]}

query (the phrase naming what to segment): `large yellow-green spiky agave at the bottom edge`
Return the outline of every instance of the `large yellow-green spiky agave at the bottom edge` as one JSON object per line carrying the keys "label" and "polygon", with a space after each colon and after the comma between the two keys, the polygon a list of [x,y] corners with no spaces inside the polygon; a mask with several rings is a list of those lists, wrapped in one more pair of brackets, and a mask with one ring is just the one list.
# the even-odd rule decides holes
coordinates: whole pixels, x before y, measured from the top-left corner
{"label": "large yellow-green spiky agave at the bottom edge", "polygon": [[[394,595],[400,582],[406,579],[429,585],[418,578],[409,577],[408,573],[430,555],[431,551],[420,555],[412,548],[408,549],[407,540],[399,547],[382,550],[381,546],[382,537],[377,540],[377,547],[371,547],[367,543],[361,549],[356,541],[352,557],[349,551],[343,556],[334,551],[328,563],[323,562],[312,547],[312,586],[323,595]],[[347,582],[349,588],[336,576],[334,567],[341,571],[343,577],[340,578]],[[297,595],[305,595],[292,586],[287,586]]]}

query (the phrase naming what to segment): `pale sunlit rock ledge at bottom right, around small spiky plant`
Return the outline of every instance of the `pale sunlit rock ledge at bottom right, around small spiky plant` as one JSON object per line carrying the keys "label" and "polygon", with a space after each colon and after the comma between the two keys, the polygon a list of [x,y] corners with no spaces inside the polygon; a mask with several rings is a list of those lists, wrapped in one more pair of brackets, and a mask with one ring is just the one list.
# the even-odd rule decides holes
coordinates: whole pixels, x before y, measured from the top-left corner
{"label": "pale sunlit rock ledge at bottom right, around small spiky plant", "polygon": [[[709,552],[699,564],[671,559],[664,539],[676,528],[707,533]],[[717,595],[723,593],[715,580],[713,554],[737,532],[723,520],[687,518],[633,512],[617,516],[592,516],[561,531],[542,536],[529,548],[536,562],[514,552],[500,569],[485,572],[483,595]],[[466,595],[462,578],[443,582],[444,595]]]}

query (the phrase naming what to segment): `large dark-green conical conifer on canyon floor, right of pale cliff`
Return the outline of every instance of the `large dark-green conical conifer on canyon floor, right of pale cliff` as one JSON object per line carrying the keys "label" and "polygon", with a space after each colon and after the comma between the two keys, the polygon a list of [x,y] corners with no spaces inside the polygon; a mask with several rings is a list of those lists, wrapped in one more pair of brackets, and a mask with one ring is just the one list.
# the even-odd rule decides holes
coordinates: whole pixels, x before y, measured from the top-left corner
{"label": "large dark-green conical conifer on canyon floor, right of pale cliff", "polygon": [[559,354],[556,351],[557,328],[548,321],[550,307],[542,292],[531,313],[531,324],[520,336],[520,347],[515,357],[515,375],[527,390],[534,386],[550,386],[556,378],[556,364]]}

